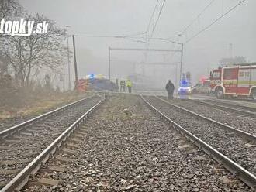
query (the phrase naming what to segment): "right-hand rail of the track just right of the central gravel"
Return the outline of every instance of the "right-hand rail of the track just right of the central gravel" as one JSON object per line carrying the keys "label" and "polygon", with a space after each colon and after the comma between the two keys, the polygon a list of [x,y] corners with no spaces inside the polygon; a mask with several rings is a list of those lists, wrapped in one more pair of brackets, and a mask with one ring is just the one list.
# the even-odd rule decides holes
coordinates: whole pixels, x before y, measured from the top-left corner
{"label": "right-hand rail of the track just right of the central gravel", "polygon": [[182,107],[180,107],[178,105],[171,104],[170,102],[168,102],[168,101],[166,101],[166,100],[164,100],[162,98],[159,98],[157,96],[155,96],[155,98],[158,98],[159,100],[167,103],[168,105],[171,105],[174,108],[178,108],[179,110],[185,111],[185,112],[187,112],[187,113],[189,113],[191,115],[195,115],[196,117],[203,118],[203,119],[207,120],[208,122],[212,122],[212,123],[214,123],[216,125],[219,125],[220,127],[223,127],[224,129],[229,129],[232,132],[238,133],[239,135],[244,136],[245,138],[251,140],[252,142],[256,142],[256,135],[252,135],[251,133],[241,131],[240,129],[235,129],[234,127],[231,127],[230,125],[226,125],[226,124],[223,124],[221,122],[217,122],[217,121],[213,120],[212,118],[207,118],[206,116],[199,115],[199,114],[197,114],[197,113],[195,113],[193,111],[189,111],[186,108],[182,108]]}

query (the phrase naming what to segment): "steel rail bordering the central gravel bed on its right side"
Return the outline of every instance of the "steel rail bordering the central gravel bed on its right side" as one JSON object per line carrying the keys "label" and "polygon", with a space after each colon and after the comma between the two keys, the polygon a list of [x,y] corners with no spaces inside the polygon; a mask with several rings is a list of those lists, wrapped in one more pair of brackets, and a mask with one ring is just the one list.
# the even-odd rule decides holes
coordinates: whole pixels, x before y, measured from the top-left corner
{"label": "steel rail bordering the central gravel bed on its right side", "polygon": [[182,135],[185,135],[185,137],[188,138],[192,143],[195,143],[195,145],[198,146],[199,149],[202,149],[206,154],[212,156],[213,159],[215,159],[217,162],[223,164],[223,166],[227,170],[229,170],[230,173],[236,175],[240,180],[246,183],[247,186],[252,188],[256,186],[256,177],[254,176],[254,174],[245,170],[242,166],[238,165],[237,163],[229,159],[227,156],[224,156],[222,153],[214,149],[212,146],[209,146],[209,144],[202,141],[201,139],[193,135],[191,132],[182,128],[182,126],[178,125],[178,123],[172,121],[171,118],[168,118],[168,116],[164,115],[161,111],[159,111],[157,108],[151,105],[142,95],[140,95],[140,97],[152,111],[156,112],[157,115],[160,115],[161,118],[164,118],[164,120],[169,124],[174,125],[175,129],[178,132],[181,132]]}

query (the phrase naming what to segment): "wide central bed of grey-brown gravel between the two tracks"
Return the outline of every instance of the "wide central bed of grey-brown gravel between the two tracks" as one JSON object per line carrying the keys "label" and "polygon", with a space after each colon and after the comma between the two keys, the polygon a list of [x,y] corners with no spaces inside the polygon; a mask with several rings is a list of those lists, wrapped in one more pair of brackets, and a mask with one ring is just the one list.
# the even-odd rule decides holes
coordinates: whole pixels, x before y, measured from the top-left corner
{"label": "wide central bed of grey-brown gravel between the two tracks", "polygon": [[24,191],[250,191],[165,125],[140,97],[112,96],[82,130],[75,154],[56,154],[73,160],[47,163],[66,170],[40,173],[59,183],[30,183]]}

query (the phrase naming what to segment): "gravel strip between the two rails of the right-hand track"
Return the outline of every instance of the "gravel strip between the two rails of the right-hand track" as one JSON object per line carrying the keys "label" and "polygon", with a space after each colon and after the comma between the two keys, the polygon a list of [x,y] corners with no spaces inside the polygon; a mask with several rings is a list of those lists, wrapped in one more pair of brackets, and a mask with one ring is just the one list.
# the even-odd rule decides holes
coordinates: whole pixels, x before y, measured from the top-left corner
{"label": "gravel strip between the two rails of the right-hand track", "polygon": [[[182,125],[192,134],[208,143],[213,148],[234,160],[244,169],[255,173],[256,171],[256,150],[254,143],[245,140],[230,130],[223,129],[219,125],[208,122],[202,118],[195,117],[178,108],[171,107],[158,98],[147,98],[164,115],[168,115],[173,121]],[[176,102],[176,101],[172,101]]]}

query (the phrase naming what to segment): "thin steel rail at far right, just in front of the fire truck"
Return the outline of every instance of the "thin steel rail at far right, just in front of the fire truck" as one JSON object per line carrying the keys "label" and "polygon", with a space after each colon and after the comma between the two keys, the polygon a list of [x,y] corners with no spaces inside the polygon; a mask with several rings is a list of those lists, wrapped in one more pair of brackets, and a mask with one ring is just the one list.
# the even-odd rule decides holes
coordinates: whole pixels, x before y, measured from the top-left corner
{"label": "thin steel rail at far right, just in front of the fire truck", "polygon": [[[199,104],[202,104],[202,105],[208,105],[208,106],[211,106],[213,108],[220,108],[220,109],[224,109],[226,111],[233,111],[233,112],[237,112],[239,113],[240,115],[249,115],[251,117],[256,117],[256,113],[252,112],[252,111],[244,111],[242,109],[239,109],[239,108],[230,108],[230,107],[227,107],[227,106],[223,106],[223,105],[216,105],[216,104],[212,104],[212,103],[209,103],[207,101],[198,101],[198,100],[194,100],[194,99],[189,99],[189,101],[194,101],[196,103],[199,103]],[[228,105],[228,104],[227,104]]]}

